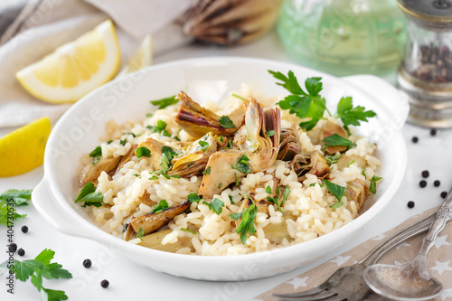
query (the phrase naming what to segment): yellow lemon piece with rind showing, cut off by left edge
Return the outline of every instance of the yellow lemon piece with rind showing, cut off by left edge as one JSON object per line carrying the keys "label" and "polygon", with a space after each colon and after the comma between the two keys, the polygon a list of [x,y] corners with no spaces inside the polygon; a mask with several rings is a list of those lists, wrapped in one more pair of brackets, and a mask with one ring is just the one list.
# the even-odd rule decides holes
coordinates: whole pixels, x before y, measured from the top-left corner
{"label": "yellow lemon piece with rind showing, cut off by left edge", "polygon": [[49,118],[40,118],[0,138],[0,177],[24,174],[42,165]]}

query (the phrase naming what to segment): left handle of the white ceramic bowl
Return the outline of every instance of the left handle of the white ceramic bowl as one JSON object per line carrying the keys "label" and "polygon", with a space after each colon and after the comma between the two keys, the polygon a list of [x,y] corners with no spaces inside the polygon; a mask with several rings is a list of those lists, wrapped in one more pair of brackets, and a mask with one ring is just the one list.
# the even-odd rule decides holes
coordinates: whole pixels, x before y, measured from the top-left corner
{"label": "left handle of the white ceramic bowl", "polygon": [[85,237],[89,228],[77,221],[71,214],[61,208],[61,204],[54,202],[55,197],[44,178],[36,185],[32,193],[34,208],[57,230],[71,236]]}

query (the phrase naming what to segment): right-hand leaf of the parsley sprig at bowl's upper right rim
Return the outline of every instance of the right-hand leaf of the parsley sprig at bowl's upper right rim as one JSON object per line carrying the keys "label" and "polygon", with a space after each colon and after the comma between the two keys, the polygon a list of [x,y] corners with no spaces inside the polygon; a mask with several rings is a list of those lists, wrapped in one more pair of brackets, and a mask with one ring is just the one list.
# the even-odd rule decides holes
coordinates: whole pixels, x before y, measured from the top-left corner
{"label": "right-hand leaf of the parsley sprig at bowl's upper right rim", "polygon": [[364,107],[356,106],[353,108],[351,97],[345,97],[339,100],[337,104],[336,117],[341,118],[344,128],[348,131],[348,126],[359,126],[361,121],[367,122],[368,118],[375,117],[377,114],[372,111],[364,111]]}

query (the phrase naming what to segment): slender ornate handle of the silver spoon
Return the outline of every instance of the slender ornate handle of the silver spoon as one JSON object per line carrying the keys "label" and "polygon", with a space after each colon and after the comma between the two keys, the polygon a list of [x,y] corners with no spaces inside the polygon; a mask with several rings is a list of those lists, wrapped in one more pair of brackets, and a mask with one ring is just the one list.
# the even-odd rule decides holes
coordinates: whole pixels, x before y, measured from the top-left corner
{"label": "slender ornate handle of the silver spoon", "polygon": [[438,233],[443,230],[446,222],[452,218],[452,191],[447,194],[446,200],[439,207],[437,219],[433,221],[427,236],[422,240],[419,255],[427,256],[428,250],[435,244]]}

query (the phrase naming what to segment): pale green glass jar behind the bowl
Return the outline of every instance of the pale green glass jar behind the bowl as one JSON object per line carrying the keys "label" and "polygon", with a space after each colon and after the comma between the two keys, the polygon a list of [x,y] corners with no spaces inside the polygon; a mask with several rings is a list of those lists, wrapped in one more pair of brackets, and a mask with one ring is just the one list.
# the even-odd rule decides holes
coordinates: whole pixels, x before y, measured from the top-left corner
{"label": "pale green glass jar behind the bowl", "polygon": [[396,0],[285,0],[278,34],[307,67],[384,76],[399,66],[405,26]]}

